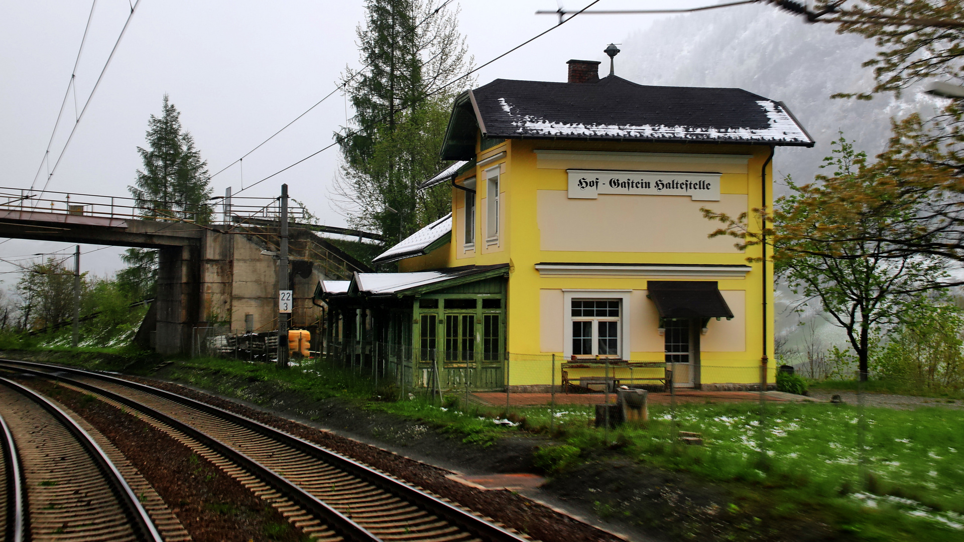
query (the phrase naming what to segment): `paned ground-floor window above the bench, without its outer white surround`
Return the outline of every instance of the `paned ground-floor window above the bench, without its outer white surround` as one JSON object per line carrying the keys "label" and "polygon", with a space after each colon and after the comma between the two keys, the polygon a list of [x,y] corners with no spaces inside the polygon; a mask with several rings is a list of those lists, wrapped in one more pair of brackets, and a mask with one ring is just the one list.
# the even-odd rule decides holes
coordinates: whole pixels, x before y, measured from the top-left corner
{"label": "paned ground-floor window above the bench, without its outer white surround", "polygon": [[574,356],[620,357],[620,299],[574,299]]}

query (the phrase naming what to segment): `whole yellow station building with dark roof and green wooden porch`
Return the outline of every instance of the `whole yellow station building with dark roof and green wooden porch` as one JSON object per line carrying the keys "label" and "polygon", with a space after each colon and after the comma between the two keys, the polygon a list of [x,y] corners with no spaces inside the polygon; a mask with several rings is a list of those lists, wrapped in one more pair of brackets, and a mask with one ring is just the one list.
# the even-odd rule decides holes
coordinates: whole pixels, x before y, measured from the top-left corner
{"label": "whole yellow station building with dark roof and green wooden porch", "polygon": [[710,237],[701,209],[759,229],[775,148],[814,140],[782,102],[599,64],[458,96],[452,164],[422,184],[451,187],[451,214],[375,259],[398,272],[319,285],[329,340],[413,386],[665,386],[670,369],[677,387],[754,389],[761,367],[773,382],[768,255]]}

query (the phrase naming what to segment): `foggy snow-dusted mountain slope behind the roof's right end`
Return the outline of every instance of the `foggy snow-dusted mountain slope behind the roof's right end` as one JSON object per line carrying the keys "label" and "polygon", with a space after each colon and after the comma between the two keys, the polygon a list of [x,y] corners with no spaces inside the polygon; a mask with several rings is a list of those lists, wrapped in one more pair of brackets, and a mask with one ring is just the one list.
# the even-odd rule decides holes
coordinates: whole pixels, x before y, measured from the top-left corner
{"label": "foggy snow-dusted mountain slope behind the roof's right end", "polygon": [[873,42],[835,30],[767,6],[685,14],[624,39],[616,73],[643,85],[736,87],[784,101],[817,146],[778,148],[774,174],[777,181],[791,175],[807,182],[838,130],[873,156],[887,143],[891,117],[932,103],[917,92],[870,101],[830,99],[873,87],[871,68],[861,67],[874,56]]}

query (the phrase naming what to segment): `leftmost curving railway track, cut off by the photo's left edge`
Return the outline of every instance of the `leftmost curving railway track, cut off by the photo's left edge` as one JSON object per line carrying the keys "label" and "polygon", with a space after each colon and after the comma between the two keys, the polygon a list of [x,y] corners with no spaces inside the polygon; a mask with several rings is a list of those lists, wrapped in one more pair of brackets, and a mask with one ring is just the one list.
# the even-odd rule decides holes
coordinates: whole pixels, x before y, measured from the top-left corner
{"label": "leftmost curving railway track, cut off by the photo's left edge", "polygon": [[118,469],[66,412],[6,378],[0,412],[6,540],[161,542]]}

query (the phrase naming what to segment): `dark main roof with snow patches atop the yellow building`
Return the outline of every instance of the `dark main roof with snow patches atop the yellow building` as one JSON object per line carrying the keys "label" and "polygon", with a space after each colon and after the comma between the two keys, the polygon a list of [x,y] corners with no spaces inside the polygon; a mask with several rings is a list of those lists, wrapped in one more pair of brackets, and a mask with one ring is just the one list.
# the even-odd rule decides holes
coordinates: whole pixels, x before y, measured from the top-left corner
{"label": "dark main roof with snow patches atop the yellow building", "polygon": [[596,83],[495,79],[468,91],[456,99],[442,158],[474,157],[476,129],[490,138],[814,146],[782,102],[741,89],[637,85],[615,75]]}

